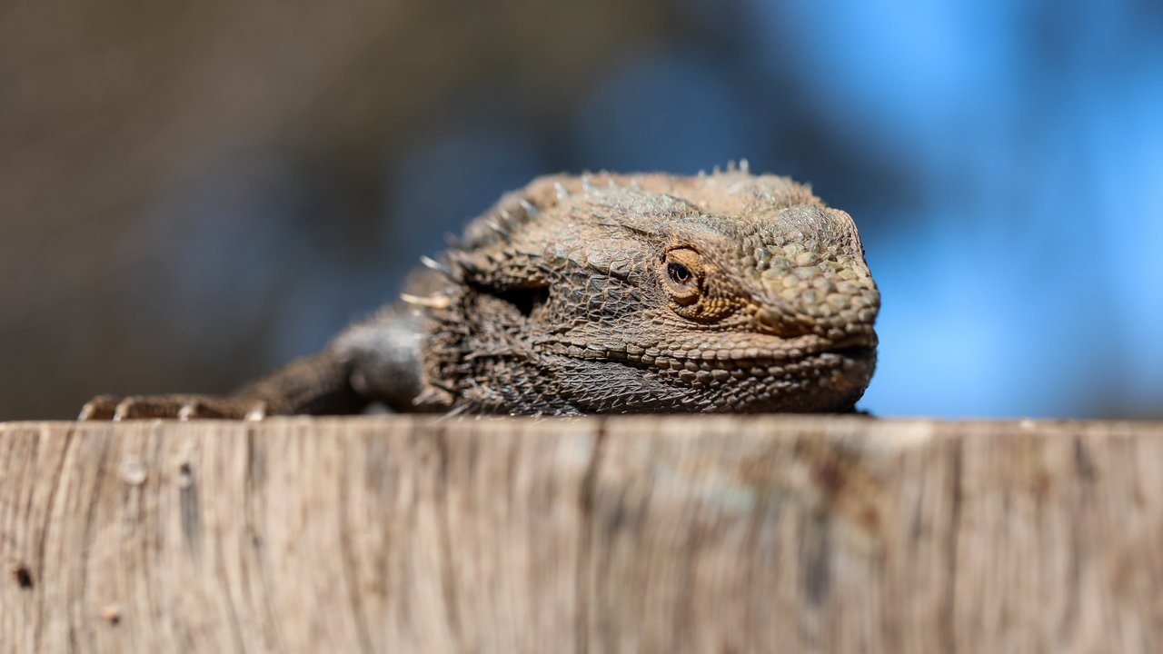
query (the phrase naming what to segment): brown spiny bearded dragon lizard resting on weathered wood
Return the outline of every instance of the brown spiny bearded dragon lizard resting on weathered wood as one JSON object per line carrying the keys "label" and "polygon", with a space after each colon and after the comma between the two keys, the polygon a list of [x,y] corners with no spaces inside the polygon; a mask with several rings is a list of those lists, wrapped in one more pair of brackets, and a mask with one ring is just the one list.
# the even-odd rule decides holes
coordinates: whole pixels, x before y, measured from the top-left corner
{"label": "brown spiny bearded dragon lizard resting on weathered wood", "polygon": [[[543,177],[469,225],[404,299],[233,398],[88,418],[358,410],[839,412],[880,297],[851,218],[787,178]],[[192,405],[204,410],[191,408]]]}

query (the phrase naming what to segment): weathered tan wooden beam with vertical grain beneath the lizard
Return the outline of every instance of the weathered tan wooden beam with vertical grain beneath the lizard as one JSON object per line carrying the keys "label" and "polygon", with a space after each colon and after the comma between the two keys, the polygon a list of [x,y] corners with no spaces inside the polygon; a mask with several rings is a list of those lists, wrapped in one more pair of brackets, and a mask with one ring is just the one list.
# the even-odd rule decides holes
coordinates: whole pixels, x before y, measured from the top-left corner
{"label": "weathered tan wooden beam with vertical grain beneath the lizard", "polygon": [[2,652],[1158,652],[1163,425],[0,425]]}

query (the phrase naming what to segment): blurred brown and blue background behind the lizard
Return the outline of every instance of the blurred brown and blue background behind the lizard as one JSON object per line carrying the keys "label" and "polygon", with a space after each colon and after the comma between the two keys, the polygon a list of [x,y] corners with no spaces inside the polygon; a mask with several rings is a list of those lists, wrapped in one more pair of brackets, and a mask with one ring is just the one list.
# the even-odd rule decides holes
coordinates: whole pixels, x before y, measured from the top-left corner
{"label": "blurred brown and blue background behind the lizard", "polygon": [[1163,418],[1163,3],[0,5],[0,419],[226,392],[536,175],[812,183],[882,415]]}

